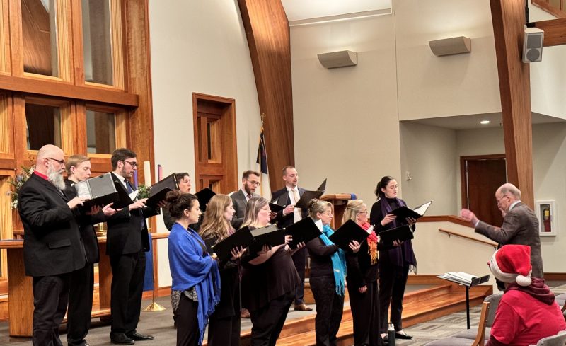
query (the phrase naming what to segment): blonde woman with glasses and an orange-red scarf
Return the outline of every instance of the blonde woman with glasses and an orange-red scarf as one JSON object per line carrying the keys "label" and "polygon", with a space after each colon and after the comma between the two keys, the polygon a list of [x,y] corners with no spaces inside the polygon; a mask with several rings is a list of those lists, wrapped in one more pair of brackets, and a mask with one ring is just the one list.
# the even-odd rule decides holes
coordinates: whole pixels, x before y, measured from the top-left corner
{"label": "blonde woman with glasses and an orange-red scarf", "polygon": [[[350,200],[342,224],[352,220],[369,229],[367,206],[362,200]],[[379,290],[377,288],[377,253],[381,250],[376,233],[371,231],[357,253],[347,253],[346,282],[354,323],[354,346],[378,346],[383,343],[379,331]]]}

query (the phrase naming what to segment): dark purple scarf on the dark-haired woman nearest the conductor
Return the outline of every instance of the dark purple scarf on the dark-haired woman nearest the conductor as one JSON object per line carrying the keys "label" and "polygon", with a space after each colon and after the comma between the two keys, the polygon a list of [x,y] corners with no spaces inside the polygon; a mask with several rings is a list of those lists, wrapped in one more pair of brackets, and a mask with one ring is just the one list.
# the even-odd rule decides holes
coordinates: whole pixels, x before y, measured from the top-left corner
{"label": "dark purple scarf on the dark-haired woman nearest the conductor", "polygon": [[[391,214],[393,209],[407,206],[405,201],[396,197],[395,198],[381,197],[379,199],[379,202],[381,202],[381,216],[382,216],[381,219],[383,219],[383,217],[385,217],[387,214]],[[394,219],[388,225],[389,226],[388,229],[394,229],[395,227],[403,226],[404,224],[407,224],[405,220]],[[384,250],[384,251],[382,250],[380,252],[379,258],[380,259],[383,258],[386,262],[393,264],[397,267],[407,267],[407,265],[411,267],[411,269],[415,269],[415,267],[417,267],[417,258],[415,258],[415,253],[412,250],[411,241],[404,241],[403,244],[397,246],[396,248],[392,248],[391,250]],[[381,262],[383,261],[380,260],[380,263]]]}

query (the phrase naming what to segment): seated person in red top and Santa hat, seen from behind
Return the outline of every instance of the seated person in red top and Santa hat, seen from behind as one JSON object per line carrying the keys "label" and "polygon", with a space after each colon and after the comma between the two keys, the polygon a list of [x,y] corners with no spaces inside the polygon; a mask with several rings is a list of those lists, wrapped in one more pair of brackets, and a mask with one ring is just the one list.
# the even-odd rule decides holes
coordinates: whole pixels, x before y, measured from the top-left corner
{"label": "seated person in red top and Santa hat, seen from behind", "polygon": [[531,277],[531,247],[505,245],[487,263],[505,284],[491,338],[486,346],[535,345],[538,340],[566,330],[566,322],[554,294],[544,279]]}

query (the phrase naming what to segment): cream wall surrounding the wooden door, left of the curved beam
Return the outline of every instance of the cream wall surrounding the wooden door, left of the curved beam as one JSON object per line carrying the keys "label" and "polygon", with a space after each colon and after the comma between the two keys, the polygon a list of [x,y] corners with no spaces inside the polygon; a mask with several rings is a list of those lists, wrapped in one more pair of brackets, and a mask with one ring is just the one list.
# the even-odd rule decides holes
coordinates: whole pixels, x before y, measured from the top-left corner
{"label": "cream wall surrounding the wooden door, left of the curved beam", "polygon": [[[254,167],[260,110],[237,1],[150,0],[149,30],[155,163],[165,175],[188,171],[194,177],[196,92],[236,100],[238,171]],[[157,223],[165,230],[161,219]],[[160,286],[171,284],[166,244],[158,242]]]}

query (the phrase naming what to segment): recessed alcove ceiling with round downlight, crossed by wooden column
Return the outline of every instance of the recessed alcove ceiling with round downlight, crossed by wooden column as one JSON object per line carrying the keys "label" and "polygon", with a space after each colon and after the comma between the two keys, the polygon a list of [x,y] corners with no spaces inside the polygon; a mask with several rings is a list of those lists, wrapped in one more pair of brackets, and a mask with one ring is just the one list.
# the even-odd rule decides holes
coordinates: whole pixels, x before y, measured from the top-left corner
{"label": "recessed alcove ceiling with round downlight, crossed by wooden column", "polygon": [[[480,121],[490,120],[489,124],[482,125]],[[446,129],[483,129],[486,127],[502,126],[501,113],[485,113],[473,115],[459,115],[457,117],[434,117],[429,119],[405,120],[407,122],[417,122],[419,124],[444,127]],[[566,122],[559,117],[550,117],[539,113],[533,113],[533,124],[544,124],[548,122]]]}

